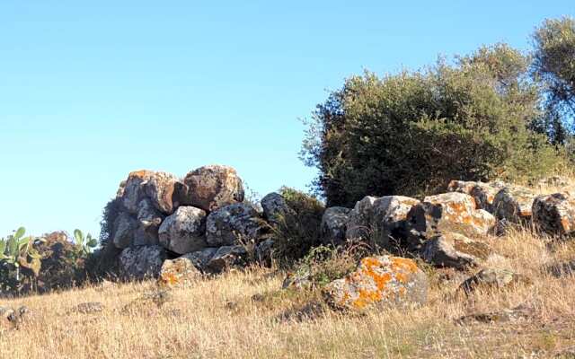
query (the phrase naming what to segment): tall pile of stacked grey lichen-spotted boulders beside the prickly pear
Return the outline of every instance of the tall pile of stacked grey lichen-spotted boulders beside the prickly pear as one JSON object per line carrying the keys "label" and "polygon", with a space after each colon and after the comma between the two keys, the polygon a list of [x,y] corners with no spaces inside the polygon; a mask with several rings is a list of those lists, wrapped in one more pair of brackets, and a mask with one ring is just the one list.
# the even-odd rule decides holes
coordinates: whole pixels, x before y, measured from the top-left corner
{"label": "tall pile of stacked grey lichen-spotted boulders beside the prickly pear", "polygon": [[[134,171],[120,183],[115,199],[110,242],[121,250],[120,275],[132,278],[174,278],[192,273],[190,262],[203,273],[243,263],[245,243],[261,253],[270,247],[270,225],[282,210],[283,198],[269,195],[264,214],[243,203],[243,183],[227,166],[210,165],[190,171],[183,180],[165,172]],[[279,196],[279,197],[278,197]],[[265,242],[265,248],[259,244]],[[264,254],[261,254],[262,256]],[[185,261],[166,261],[179,257]],[[169,268],[163,269],[163,266]]]}

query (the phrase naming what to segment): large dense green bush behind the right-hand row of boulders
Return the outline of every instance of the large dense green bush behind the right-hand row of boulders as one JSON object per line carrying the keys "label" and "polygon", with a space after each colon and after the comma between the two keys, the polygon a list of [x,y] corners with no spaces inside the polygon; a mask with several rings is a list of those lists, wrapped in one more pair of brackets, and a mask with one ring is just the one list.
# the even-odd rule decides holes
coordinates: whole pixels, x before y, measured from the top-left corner
{"label": "large dense green bush behind the right-hand row of boulders", "polygon": [[366,195],[420,197],[449,180],[523,181],[562,162],[545,136],[527,61],[507,45],[416,72],[353,76],[317,106],[302,157],[327,206]]}

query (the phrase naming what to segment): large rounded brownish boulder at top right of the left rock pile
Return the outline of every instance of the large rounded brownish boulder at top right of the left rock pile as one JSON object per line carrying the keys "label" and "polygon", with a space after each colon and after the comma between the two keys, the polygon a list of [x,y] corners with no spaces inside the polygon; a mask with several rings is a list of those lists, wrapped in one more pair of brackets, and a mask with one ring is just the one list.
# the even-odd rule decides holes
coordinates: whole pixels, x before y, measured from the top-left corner
{"label": "large rounded brownish boulder at top right of the left rock pile", "polygon": [[184,205],[211,212],[243,201],[243,184],[236,171],[228,166],[210,165],[190,171],[183,180],[186,195]]}

